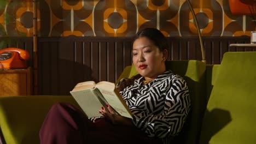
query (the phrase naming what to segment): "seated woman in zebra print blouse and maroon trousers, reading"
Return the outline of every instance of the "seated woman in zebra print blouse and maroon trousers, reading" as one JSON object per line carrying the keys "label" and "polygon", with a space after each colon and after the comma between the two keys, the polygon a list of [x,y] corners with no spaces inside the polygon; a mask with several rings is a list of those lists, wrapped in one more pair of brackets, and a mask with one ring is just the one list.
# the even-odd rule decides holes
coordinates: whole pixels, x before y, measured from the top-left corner
{"label": "seated woman in zebra print blouse and maroon trousers, reading", "polygon": [[103,117],[88,119],[69,104],[55,104],[40,130],[41,143],[163,143],[179,134],[190,111],[187,83],[166,70],[167,40],[146,28],[133,41],[132,61],[138,75],[117,88],[133,119],[107,105]]}

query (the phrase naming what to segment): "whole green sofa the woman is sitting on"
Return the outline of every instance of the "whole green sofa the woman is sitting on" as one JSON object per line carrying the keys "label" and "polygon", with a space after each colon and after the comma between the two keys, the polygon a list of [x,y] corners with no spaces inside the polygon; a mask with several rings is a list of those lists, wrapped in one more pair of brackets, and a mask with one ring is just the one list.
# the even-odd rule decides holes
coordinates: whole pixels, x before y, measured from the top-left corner
{"label": "whole green sofa the woman is sitting on", "polygon": [[[167,69],[184,77],[192,111],[179,143],[255,143],[256,52],[226,52],[220,65],[170,61]],[[120,75],[137,74],[133,65]],[[39,143],[39,129],[51,105],[78,106],[70,95],[0,97],[0,128],[6,143]],[[0,142],[1,143],[1,142]]]}

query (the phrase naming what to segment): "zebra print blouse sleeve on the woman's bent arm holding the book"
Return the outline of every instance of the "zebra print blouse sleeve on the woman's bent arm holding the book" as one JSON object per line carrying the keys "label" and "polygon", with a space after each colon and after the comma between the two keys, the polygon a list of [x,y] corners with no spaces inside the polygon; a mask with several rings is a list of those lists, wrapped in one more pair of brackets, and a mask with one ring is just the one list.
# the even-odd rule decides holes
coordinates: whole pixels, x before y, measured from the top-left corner
{"label": "zebra print blouse sleeve on the woman's bent arm holding the book", "polygon": [[187,120],[190,111],[187,83],[182,78],[176,78],[171,80],[169,87],[165,92],[164,110],[159,115],[147,115],[142,110],[132,109],[133,124],[150,137],[177,135]]}

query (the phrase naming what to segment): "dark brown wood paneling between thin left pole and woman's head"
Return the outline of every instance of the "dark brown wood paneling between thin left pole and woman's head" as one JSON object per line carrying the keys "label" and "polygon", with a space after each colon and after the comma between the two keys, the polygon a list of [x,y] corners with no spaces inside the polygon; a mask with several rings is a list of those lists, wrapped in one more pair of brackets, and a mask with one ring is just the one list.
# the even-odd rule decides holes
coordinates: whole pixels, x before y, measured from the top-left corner
{"label": "dark brown wood paneling between thin left pole and woman's head", "polygon": [[131,38],[68,37],[38,41],[39,94],[69,94],[82,81],[114,82],[131,64]]}

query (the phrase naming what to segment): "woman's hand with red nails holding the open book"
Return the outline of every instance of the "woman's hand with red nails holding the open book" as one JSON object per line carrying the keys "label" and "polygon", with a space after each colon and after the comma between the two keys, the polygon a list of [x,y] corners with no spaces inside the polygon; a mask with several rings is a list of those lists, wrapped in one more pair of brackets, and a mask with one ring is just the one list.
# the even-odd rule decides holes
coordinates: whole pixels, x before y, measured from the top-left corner
{"label": "woman's hand with red nails holding the open book", "polygon": [[111,106],[107,105],[107,110],[104,107],[101,107],[101,111],[99,111],[106,119],[108,119],[113,124],[121,124],[121,125],[132,125],[132,121],[130,118],[123,117],[118,115]]}

